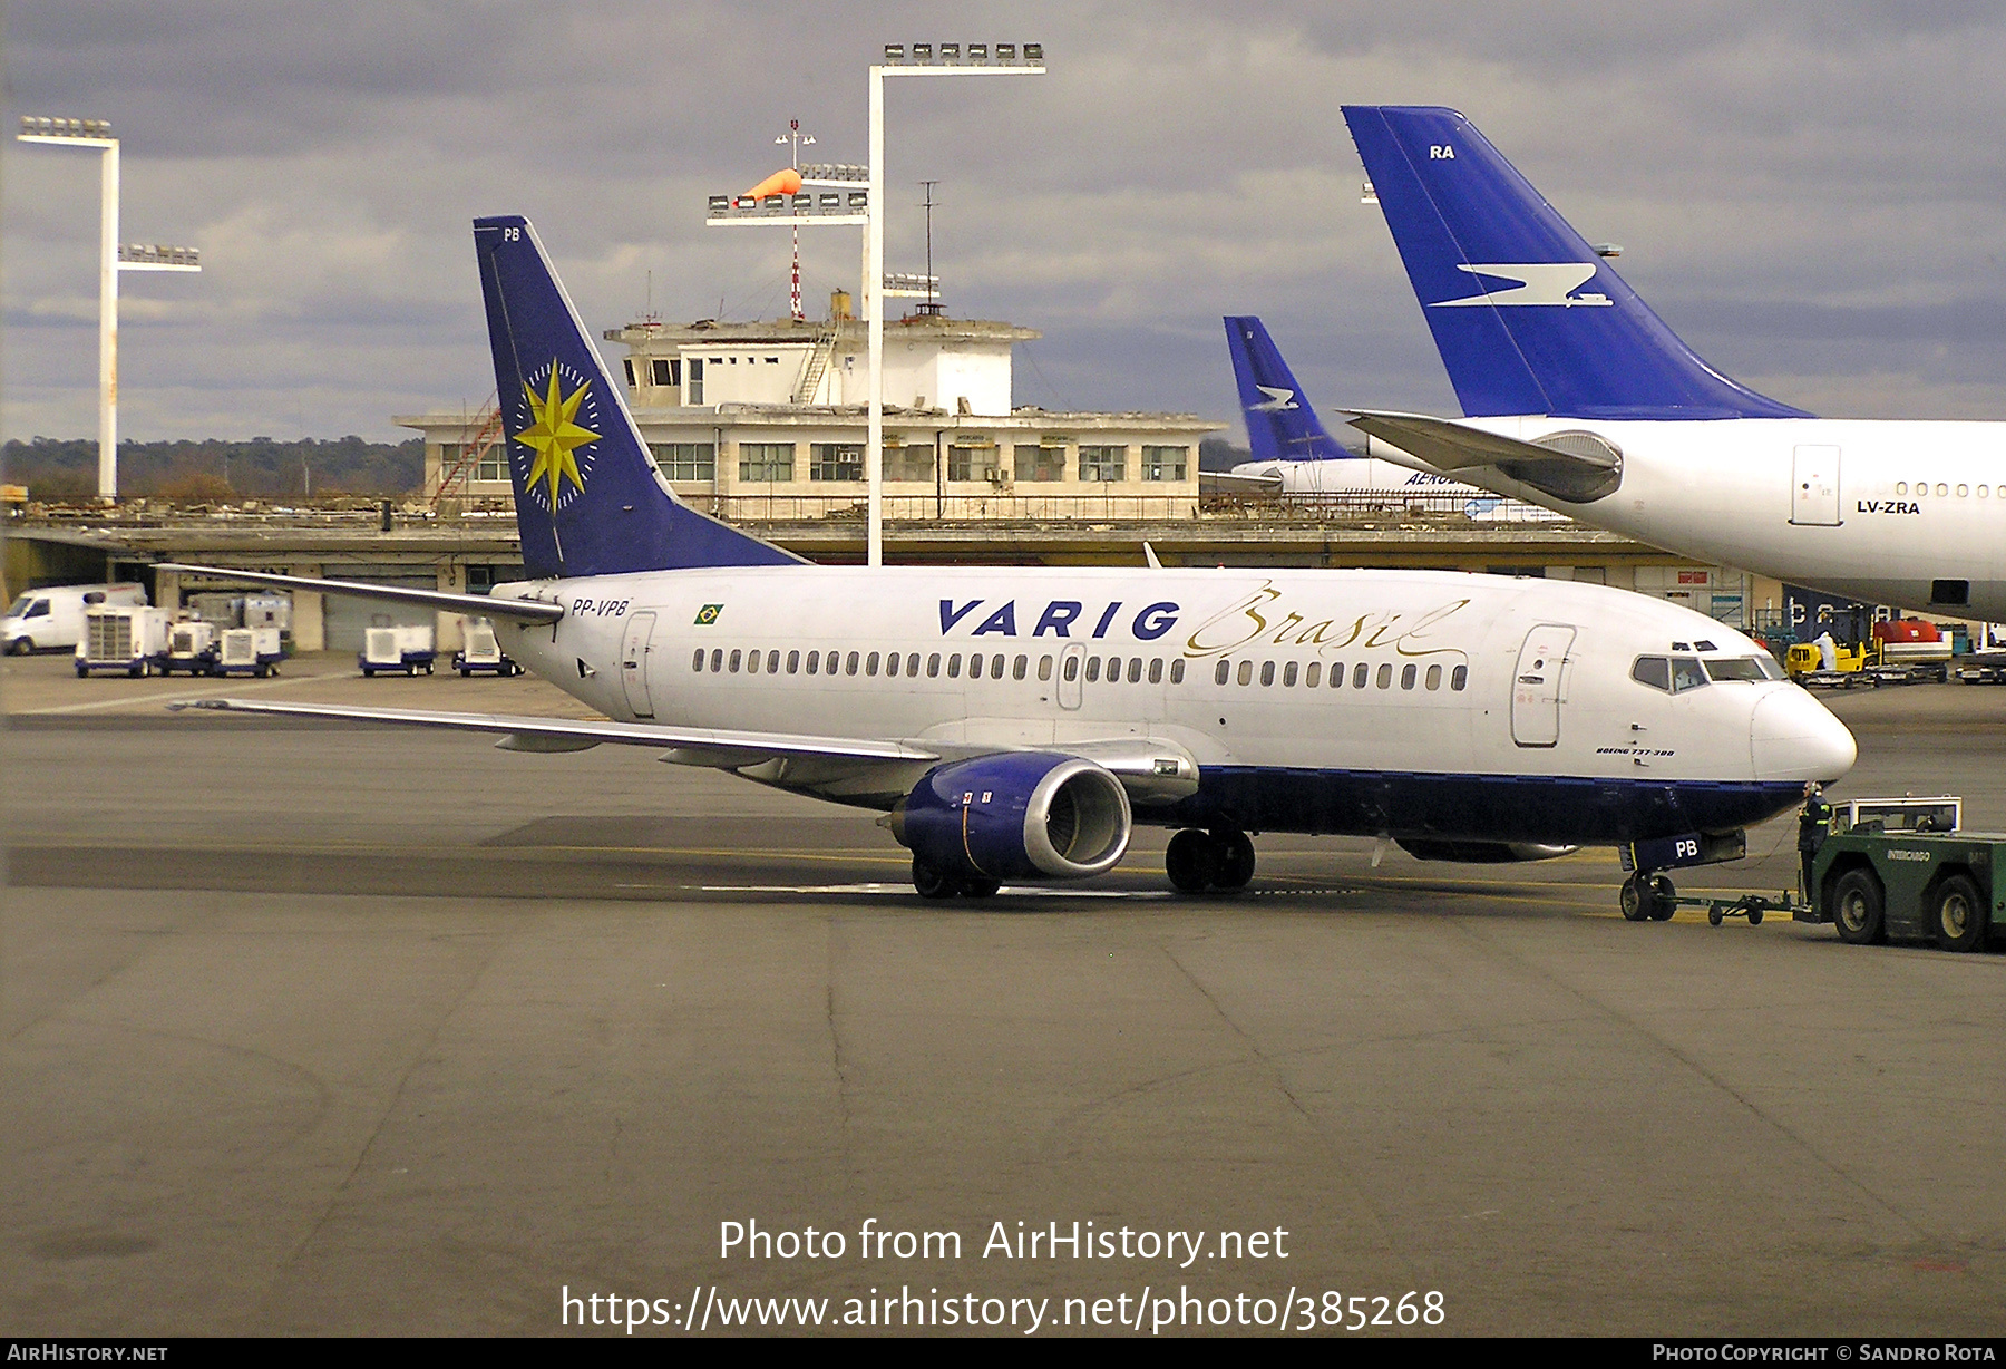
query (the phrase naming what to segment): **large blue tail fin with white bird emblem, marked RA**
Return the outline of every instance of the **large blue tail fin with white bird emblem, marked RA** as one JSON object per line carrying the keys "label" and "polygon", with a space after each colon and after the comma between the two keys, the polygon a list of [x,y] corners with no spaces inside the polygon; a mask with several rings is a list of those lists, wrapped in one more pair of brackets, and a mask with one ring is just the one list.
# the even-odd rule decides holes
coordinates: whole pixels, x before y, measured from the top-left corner
{"label": "large blue tail fin with white bird emblem, marked RA", "polygon": [[1456,110],[1344,122],[1464,416],[1807,418],[1701,361]]}

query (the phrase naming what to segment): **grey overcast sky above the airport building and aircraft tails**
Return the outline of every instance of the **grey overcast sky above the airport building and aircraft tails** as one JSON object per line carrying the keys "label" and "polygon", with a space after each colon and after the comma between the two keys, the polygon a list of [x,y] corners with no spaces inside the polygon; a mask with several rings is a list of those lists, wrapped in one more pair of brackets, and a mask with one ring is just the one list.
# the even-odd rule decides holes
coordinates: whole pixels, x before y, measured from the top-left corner
{"label": "grey overcast sky above the airport building and aircraft tails", "polygon": [[[955,12],[953,24],[941,18]],[[973,18],[971,18],[973,16]],[[995,18],[989,18],[995,16]],[[16,114],[110,118],[128,438],[409,436],[493,389],[469,219],[528,213],[586,323],[778,317],[786,235],[704,197],[865,161],[889,40],[1041,40],[1049,74],[895,80],[889,269],[1045,333],[1017,403],[1196,409],[1220,315],[1320,405],[1454,414],[1340,102],[1454,104],[1713,365],[1833,416],[2006,418],[1998,4],[415,4],[16,0]],[[96,432],[94,155],[10,141],[4,436]],[[810,315],[853,229],[804,235]],[[616,349],[618,351],[618,349]]]}

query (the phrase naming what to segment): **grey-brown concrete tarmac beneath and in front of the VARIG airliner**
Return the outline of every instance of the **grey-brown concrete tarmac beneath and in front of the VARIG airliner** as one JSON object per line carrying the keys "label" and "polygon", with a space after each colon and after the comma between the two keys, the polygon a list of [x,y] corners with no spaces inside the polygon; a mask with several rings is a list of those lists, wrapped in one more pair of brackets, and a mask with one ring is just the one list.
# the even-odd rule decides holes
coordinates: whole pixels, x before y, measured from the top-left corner
{"label": "grey-brown concrete tarmac beneath and in front of the VARIG airliner", "polygon": [[[618,1335],[594,1295],[648,1333],[768,1295],[879,1331],[1049,1299],[1045,1335],[2006,1333],[1996,949],[1631,925],[1607,851],[1262,837],[1246,895],[1172,899],[1147,829],[1107,879],[927,903],[873,815],[646,751],[160,709],[576,713],[534,680],[0,687],[18,1335]],[[1831,703],[1837,795],[2006,825],[2006,691]],[[1749,851],[1681,887],[1791,881],[1791,823]],[[1115,1249],[1019,1259],[1019,1222]]]}

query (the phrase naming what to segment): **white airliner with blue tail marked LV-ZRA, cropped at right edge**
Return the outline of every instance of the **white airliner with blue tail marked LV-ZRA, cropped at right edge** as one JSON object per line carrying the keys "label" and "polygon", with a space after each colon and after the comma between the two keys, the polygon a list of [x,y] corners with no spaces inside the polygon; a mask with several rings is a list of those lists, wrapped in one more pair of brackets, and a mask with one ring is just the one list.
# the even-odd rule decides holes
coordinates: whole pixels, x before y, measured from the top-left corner
{"label": "white airliner with blue tail marked LV-ZRA, cropped at right edge", "polygon": [[1456,110],[1348,104],[1462,422],[1368,452],[1699,560],[2006,618],[2006,424],[1821,420],[1701,361]]}

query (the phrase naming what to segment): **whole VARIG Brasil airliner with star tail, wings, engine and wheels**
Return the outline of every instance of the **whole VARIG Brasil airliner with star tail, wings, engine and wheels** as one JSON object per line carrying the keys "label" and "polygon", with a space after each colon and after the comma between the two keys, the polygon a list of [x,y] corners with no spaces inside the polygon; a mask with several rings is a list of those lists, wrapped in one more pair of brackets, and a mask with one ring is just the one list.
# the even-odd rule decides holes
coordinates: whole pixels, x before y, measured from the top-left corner
{"label": "whole VARIG Brasil airliner with star tail, wings, engine and wheels", "polygon": [[[929,897],[1097,875],[1135,823],[1180,829],[1186,891],[1246,885],[1256,831],[1472,861],[1635,843],[1667,869],[1854,763],[1755,642],[1601,586],[804,564],[674,498],[528,221],[473,237],[532,578],[487,598],[227,574],[497,618],[610,721],[201,707],[656,747],[885,811]],[[1633,879],[1625,911],[1669,915],[1661,889]]]}

